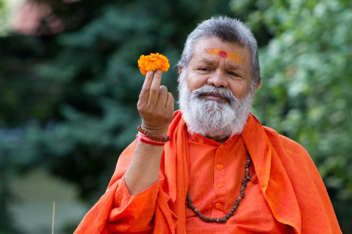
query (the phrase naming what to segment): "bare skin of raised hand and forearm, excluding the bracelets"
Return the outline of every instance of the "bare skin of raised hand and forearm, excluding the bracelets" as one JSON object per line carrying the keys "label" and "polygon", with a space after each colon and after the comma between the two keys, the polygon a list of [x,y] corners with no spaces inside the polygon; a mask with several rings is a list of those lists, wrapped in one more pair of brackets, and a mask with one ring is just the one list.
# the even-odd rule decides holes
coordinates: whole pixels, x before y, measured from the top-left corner
{"label": "bare skin of raised hand and forearm, excluding the bracelets", "polygon": [[[142,129],[152,135],[167,135],[174,117],[174,98],[165,86],[160,86],[161,71],[149,71],[139,95],[137,109],[142,116]],[[159,178],[163,146],[137,141],[125,183],[130,195],[140,193]]]}

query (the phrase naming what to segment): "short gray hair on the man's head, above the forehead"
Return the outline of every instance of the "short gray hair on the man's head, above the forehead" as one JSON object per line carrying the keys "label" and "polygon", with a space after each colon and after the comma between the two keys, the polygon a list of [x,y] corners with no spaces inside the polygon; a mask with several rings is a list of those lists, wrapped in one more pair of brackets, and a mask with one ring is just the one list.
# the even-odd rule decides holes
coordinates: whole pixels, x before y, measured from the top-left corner
{"label": "short gray hair on the man's head, above the forehead", "polygon": [[260,76],[257,41],[251,30],[243,22],[226,16],[212,17],[198,24],[187,37],[178,66],[187,69],[188,62],[194,53],[196,41],[201,38],[210,38],[213,36],[216,36],[222,42],[238,44],[239,46],[249,49],[251,55],[251,88],[259,84],[262,78]]}

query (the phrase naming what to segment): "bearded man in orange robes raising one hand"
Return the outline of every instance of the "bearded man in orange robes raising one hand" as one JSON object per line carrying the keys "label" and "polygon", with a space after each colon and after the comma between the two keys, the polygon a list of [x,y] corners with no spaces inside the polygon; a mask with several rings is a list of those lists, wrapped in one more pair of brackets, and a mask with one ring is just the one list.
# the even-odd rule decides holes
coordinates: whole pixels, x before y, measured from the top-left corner
{"label": "bearded man in orange robes raising one hand", "polygon": [[138,138],[75,233],[341,233],[308,153],[250,114],[258,60],[250,30],[219,17],[187,38],[180,111],[148,72]]}

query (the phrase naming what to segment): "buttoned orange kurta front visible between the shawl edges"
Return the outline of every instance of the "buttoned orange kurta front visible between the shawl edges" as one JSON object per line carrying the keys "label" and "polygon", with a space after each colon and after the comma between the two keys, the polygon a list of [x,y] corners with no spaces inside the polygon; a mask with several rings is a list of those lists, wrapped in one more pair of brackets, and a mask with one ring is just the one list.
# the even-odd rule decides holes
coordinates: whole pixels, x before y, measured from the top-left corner
{"label": "buttoned orange kurta front visible between the shawl edges", "polygon": [[[248,151],[242,135],[234,135],[224,143],[188,134],[189,185],[194,205],[209,218],[222,218],[240,196]],[[206,223],[186,205],[187,234],[199,233],[268,233],[287,234],[289,226],[277,221],[260,189],[253,166],[251,181],[238,209],[226,223]]]}

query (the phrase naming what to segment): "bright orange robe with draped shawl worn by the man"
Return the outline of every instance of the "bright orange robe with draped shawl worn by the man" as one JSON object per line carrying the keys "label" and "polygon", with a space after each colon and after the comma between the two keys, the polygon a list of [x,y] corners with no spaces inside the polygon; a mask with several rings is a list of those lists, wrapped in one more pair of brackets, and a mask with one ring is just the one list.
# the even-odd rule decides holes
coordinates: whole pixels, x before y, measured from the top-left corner
{"label": "bright orange robe with draped shawl worn by the man", "polygon": [[[201,162],[197,162],[195,155],[201,147],[195,149],[194,146],[205,142],[199,142],[200,137],[195,139],[197,137],[192,136],[189,139],[185,130],[181,113],[176,111],[168,132],[171,141],[164,146],[159,180],[144,192],[130,197],[126,196],[128,191],[124,183],[124,173],[136,141],[131,143],[122,152],[106,193],[89,210],[75,233],[186,233],[186,230],[192,233],[191,227],[197,226],[201,220],[186,207],[188,190],[193,205],[196,208],[201,206],[199,209],[201,212],[205,210],[205,216],[221,218],[224,216],[221,214],[228,213],[228,209],[234,204],[230,199],[235,200],[238,194],[222,195],[225,189],[233,191],[231,186],[243,179],[244,171],[241,167],[235,168],[234,175],[240,177],[233,179],[227,179],[226,173],[216,171],[218,164],[227,169],[231,160],[229,161],[230,156],[225,157],[218,153],[220,144],[213,142],[216,147],[213,179],[207,186],[201,181],[195,185],[196,175],[190,174],[191,170],[194,171],[191,167],[198,165],[199,170],[204,171],[203,174],[207,170]],[[250,154],[250,175],[253,181],[248,182],[244,199],[236,210],[238,213],[235,212],[226,223],[205,223],[208,229],[195,229],[193,233],[206,230],[209,233],[226,233],[227,228],[231,228],[231,233],[341,233],[321,177],[302,146],[270,128],[263,127],[253,115],[249,116],[244,131],[237,138],[227,140],[222,148],[226,150],[229,147],[229,151],[233,147],[239,147],[239,155],[247,152]],[[235,146],[226,145],[227,142],[240,143]],[[209,145],[209,142],[206,143]],[[241,148],[241,145],[245,147]],[[243,158],[244,156],[240,156],[235,160],[244,167]],[[205,164],[209,166],[209,161]],[[205,181],[211,179],[211,176],[204,177]],[[225,186],[218,187],[218,183]],[[209,189],[209,184],[216,187]],[[200,202],[200,199],[209,197],[207,193],[212,193],[210,195],[214,200]],[[147,202],[140,202],[141,198]],[[216,203],[220,203],[223,208],[214,208]],[[276,232],[272,232],[270,228]]]}

